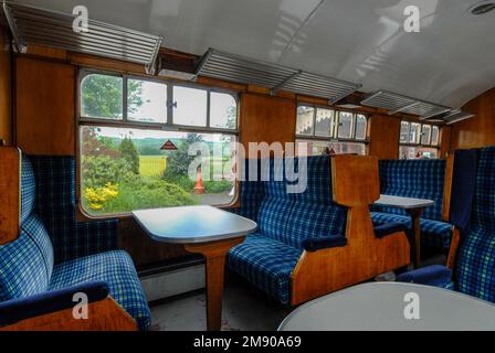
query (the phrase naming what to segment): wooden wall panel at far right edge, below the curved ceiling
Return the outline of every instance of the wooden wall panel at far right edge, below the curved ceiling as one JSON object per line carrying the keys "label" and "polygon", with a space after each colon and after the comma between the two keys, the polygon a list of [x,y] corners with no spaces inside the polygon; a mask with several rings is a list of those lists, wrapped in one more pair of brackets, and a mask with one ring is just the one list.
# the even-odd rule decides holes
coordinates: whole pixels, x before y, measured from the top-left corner
{"label": "wooden wall panel at far right edge, below the curved ceiling", "polygon": [[495,145],[495,88],[467,103],[463,110],[474,118],[452,126],[451,149]]}

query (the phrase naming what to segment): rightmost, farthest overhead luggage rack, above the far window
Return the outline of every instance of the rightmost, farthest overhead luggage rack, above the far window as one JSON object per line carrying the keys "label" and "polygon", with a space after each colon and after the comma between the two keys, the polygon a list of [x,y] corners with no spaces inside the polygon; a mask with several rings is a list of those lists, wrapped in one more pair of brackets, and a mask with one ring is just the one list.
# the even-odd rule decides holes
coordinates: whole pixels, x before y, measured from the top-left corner
{"label": "rightmost, farthest overhead luggage rack, above the far window", "polygon": [[446,124],[454,124],[474,116],[450,107],[386,90],[379,90],[369,95],[366,99],[361,100],[361,105],[388,110],[389,115],[404,113],[419,116],[421,120],[433,119]]}

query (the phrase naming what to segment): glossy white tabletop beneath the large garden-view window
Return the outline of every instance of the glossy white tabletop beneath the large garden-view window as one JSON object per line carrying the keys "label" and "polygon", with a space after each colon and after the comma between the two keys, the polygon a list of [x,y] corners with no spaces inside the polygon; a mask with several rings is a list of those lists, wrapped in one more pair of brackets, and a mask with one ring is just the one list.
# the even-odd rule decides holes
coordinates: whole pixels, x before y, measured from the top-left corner
{"label": "glossy white tabletop beneath the large garden-view window", "polygon": [[209,243],[249,235],[257,224],[212,206],[182,206],[133,211],[148,235],[173,244]]}

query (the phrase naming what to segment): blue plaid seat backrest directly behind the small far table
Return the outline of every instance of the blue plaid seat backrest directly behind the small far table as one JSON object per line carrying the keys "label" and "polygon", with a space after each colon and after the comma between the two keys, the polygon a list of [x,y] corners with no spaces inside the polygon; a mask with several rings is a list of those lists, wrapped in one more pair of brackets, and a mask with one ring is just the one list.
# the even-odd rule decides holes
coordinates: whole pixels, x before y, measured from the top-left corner
{"label": "blue plaid seat backrest directly behind the small far table", "polygon": [[[387,195],[428,199],[435,203],[426,207],[422,218],[442,221],[446,160],[380,160],[380,192]],[[373,206],[373,211],[406,215],[404,210]]]}

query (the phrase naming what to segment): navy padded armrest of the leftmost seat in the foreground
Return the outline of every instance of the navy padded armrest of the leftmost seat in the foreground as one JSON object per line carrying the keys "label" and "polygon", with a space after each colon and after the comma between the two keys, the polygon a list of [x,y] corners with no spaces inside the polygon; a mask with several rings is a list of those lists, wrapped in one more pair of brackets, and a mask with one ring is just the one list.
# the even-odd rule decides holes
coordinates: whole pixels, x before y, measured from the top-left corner
{"label": "navy padded armrest of the leftmost seat in the foreground", "polygon": [[87,303],[104,300],[108,297],[108,285],[93,281],[61,290],[48,291],[41,295],[9,300],[0,303],[0,327],[14,324],[19,321],[44,315],[48,313],[72,309],[75,293],[85,293]]}

